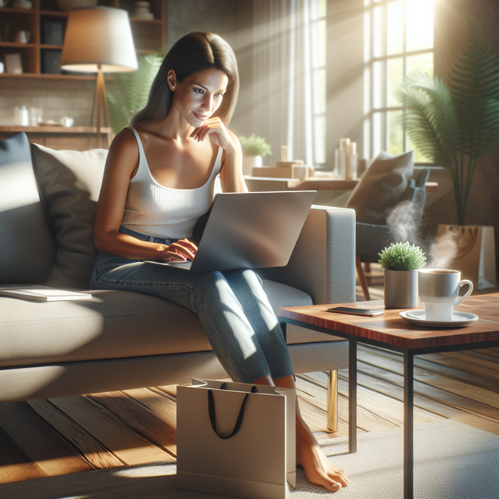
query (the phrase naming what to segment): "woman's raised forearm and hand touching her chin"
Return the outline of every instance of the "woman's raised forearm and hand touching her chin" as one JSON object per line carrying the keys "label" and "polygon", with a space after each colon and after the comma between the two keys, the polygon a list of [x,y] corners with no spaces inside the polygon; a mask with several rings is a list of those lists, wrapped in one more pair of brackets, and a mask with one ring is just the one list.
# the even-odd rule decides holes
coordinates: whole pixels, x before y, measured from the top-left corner
{"label": "woman's raised forearm and hand touching her chin", "polygon": [[224,148],[220,183],[224,192],[248,192],[243,178],[243,152],[239,139],[228,130],[218,117],[208,118],[202,127],[196,128],[191,137],[204,140],[206,136]]}

